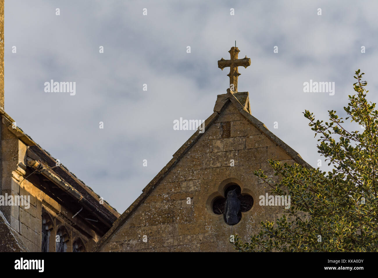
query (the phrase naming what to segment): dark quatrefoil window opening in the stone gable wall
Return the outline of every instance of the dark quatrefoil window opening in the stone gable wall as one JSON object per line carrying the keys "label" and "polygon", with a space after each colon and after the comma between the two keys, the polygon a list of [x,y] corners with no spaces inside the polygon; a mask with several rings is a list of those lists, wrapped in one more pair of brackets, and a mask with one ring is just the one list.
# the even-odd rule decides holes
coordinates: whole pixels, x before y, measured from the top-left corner
{"label": "dark quatrefoil window opening in the stone gable wall", "polygon": [[215,214],[223,214],[228,225],[235,225],[242,219],[242,212],[249,211],[253,206],[253,198],[249,194],[241,194],[240,186],[231,183],[225,187],[225,197],[215,197],[212,210]]}

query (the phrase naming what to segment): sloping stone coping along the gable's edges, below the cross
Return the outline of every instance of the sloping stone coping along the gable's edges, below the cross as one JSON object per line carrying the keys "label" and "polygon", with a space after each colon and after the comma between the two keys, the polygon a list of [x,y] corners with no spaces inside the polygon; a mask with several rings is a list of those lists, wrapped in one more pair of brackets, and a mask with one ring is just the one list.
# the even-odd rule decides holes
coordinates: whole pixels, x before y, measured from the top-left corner
{"label": "sloping stone coping along the gable's edges, below the cross", "polygon": [[[304,166],[311,166],[305,162],[302,157],[294,151],[290,146],[284,143],[280,138],[274,135],[270,130],[268,130],[262,122],[257,120],[254,116],[250,114],[250,105],[248,92],[237,92],[231,93],[230,89],[227,89],[227,93],[223,95],[218,95],[217,101],[214,106],[214,113],[212,113],[209,118],[205,120],[205,132],[206,130],[217,120],[221,113],[222,108],[230,102],[237,108],[237,110],[245,116],[245,118],[257,127],[263,134],[270,138],[274,143],[280,146],[288,155],[290,155],[293,160]],[[161,169],[161,171],[147,184],[147,186],[142,190],[142,194],[130,205],[124,213],[113,223],[113,227],[107,231],[107,233],[100,239],[100,241],[93,247],[92,251],[97,251],[101,245],[105,244],[107,240],[115,233],[122,224],[129,219],[133,212],[139,207],[139,205],[150,195],[150,193],[155,189],[155,187],[160,183],[161,180],[170,172],[171,169],[180,161],[180,159],[186,154],[187,151],[198,141],[198,139],[204,133],[200,133],[197,130],[190,138],[187,140],[177,152],[174,153],[173,158],[167,163],[167,165]]]}

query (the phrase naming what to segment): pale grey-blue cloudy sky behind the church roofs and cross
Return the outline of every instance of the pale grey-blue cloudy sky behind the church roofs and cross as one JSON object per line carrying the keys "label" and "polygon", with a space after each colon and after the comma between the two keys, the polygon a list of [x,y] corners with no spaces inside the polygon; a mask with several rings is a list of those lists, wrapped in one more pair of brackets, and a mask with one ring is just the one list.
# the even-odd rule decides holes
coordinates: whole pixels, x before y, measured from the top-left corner
{"label": "pale grey-blue cloudy sky behind the church roofs and cross", "polygon": [[[302,112],[344,116],[358,68],[378,101],[377,8],[345,0],[5,0],[5,111],[122,213],[193,134],[173,130],[173,121],[208,118],[226,93],[229,70],[217,61],[229,59],[236,40],[239,57],[251,58],[239,68],[238,90],[249,92],[253,116],[316,167],[317,141]],[[51,79],[76,82],[76,95],[44,92]],[[310,79],[335,82],[335,95],[304,93]]]}

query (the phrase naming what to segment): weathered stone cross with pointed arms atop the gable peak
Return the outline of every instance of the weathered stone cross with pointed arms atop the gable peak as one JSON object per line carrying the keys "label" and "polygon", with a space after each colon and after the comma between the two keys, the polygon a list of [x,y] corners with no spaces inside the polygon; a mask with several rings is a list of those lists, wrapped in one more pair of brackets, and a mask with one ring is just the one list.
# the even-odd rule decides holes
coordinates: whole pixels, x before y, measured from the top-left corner
{"label": "weathered stone cross with pointed arms atop the gable peak", "polygon": [[230,90],[232,90],[233,87],[232,91],[237,92],[237,77],[240,75],[237,67],[243,66],[247,68],[251,65],[251,59],[247,58],[247,56],[243,59],[238,59],[237,56],[240,50],[237,47],[231,47],[228,52],[231,55],[231,60],[220,59],[218,61],[218,68],[223,70],[225,67],[230,67],[230,73],[227,75],[230,78]]}

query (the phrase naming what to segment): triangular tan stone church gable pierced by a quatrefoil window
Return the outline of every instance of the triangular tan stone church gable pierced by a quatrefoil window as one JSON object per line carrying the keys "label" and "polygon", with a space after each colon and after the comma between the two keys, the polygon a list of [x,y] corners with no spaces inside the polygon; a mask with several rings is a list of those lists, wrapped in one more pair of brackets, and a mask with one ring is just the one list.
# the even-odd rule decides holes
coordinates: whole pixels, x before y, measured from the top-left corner
{"label": "triangular tan stone church gable pierced by a quatrefoil window", "polygon": [[[218,95],[206,131],[197,131],[174,154],[95,250],[232,251],[230,235],[246,241],[259,232],[260,221],[283,213],[282,206],[259,205],[259,196],[269,191],[253,172],[263,169],[277,178],[268,159],[305,162],[251,116],[248,93],[242,96],[243,104],[229,90]],[[238,214],[232,214],[235,204],[242,207]]]}

